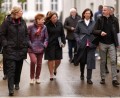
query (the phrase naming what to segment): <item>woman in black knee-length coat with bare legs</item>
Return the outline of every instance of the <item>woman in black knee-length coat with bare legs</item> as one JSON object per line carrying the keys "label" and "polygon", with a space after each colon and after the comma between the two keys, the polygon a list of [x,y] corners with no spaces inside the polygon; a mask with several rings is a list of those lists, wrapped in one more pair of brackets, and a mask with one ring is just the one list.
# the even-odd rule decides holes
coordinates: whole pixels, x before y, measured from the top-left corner
{"label": "woman in black knee-length coat with bare legs", "polygon": [[53,74],[56,75],[57,68],[62,59],[62,47],[65,46],[65,34],[63,25],[58,21],[58,15],[50,12],[47,16],[48,47],[45,49],[45,60],[48,60],[50,80],[53,80]]}

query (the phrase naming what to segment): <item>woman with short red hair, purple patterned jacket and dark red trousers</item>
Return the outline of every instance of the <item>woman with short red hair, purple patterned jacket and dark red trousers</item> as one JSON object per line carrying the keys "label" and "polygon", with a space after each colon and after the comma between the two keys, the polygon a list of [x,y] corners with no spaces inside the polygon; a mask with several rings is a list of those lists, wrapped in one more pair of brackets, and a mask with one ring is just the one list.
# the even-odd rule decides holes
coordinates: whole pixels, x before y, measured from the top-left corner
{"label": "woman with short red hair, purple patterned jacket and dark red trousers", "polygon": [[[40,83],[39,77],[42,67],[42,57],[44,49],[48,44],[47,28],[44,25],[44,15],[37,14],[35,16],[35,23],[28,27],[30,48],[28,53],[30,56],[30,84],[36,82]],[[35,80],[34,80],[35,79]]]}

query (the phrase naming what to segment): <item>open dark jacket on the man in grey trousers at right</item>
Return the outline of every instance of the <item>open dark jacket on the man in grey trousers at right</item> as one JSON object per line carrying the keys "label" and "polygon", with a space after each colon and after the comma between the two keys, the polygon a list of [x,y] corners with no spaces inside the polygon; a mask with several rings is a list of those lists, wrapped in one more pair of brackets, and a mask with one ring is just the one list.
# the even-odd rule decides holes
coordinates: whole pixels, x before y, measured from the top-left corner
{"label": "open dark jacket on the man in grey trousers at right", "polygon": [[[104,19],[105,19],[105,16],[101,16],[96,21],[96,24],[95,24],[94,29],[93,29],[93,33],[97,37],[96,37],[96,41],[94,41],[94,44],[99,44],[99,41],[102,38],[101,32],[102,32],[103,25],[104,25]],[[118,44],[118,37],[117,37],[117,33],[119,33],[119,23],[118,23],[117,18],[114,17],[114,16],[110,16],[110,19],[111,19],[111,25],[112,25],[111,29],[112,29],[112,35],[113,35],[113,41],[114,41],[113,43],[117,47],[117,46],[119,46],[119,44]]]}

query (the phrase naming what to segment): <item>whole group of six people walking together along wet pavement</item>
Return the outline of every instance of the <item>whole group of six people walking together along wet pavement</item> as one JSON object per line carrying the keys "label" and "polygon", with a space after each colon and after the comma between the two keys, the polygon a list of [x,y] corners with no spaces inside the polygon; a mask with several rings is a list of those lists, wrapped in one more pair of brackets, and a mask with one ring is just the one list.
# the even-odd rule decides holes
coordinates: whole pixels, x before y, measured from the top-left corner
{"label": "whole group of six people walking together along wet pavement", "polygon": [[[71,8],[70,16],[65,19],[64,25],[53,11],[48,11],[46,16],[38,13],[33,24],[29,26],[23,20],[22,14],[21,7],[13,7],[10,15],[5,17],[0,26],[3,67],[7,70],[5,76],[8,79],[9,96],[14,95],[14,85],[15,89],[19,90],[23,61],[27,58],[27,53],[30,57],[30,84],[40,83],[43,54],[44,59],[48,60],[50,81],[53,81],[63,58],[62,48],[66,45],[66,39],[69,61],[72,62],[76,53],[73,63],[80,64],[81,80],[84,80],[84,70],[87,65],[87,83],[93,84],[92,69],[96,67],[95,52],[99,46],[100,83],[105,84],[105,65],[109,53],[112,84],[119,85],[116,70],[119,23],[117,18],[111,15],[110,6],[103,6],[102,15],[96,21],[93,20],[91,9],[86,8],[81,17],[76,8]],[[66,37],[64,28],[67,30]]]}

